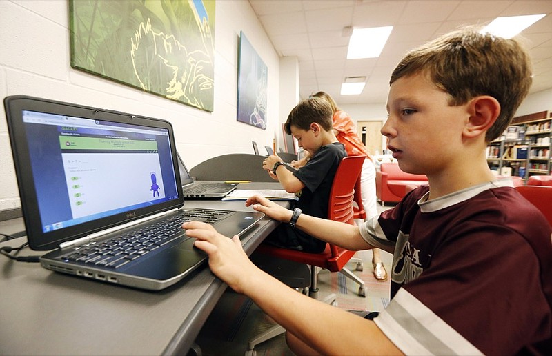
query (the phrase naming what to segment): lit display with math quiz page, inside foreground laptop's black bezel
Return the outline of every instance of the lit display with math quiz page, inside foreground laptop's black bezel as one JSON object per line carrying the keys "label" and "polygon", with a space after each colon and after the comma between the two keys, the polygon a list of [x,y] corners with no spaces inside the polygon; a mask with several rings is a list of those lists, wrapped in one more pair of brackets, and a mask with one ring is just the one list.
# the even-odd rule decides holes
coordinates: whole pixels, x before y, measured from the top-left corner
{"label": "lit display with math quiz page, inside foreground laptop's black bezel", "polygon": [[29,110],[23,122],[44,233],[178,196],[164,128]]}

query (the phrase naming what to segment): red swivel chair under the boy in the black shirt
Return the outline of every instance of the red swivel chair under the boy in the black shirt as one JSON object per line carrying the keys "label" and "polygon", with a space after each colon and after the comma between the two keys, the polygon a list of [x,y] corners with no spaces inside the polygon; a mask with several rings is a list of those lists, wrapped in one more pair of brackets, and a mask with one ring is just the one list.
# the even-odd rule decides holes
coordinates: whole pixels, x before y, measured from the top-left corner
{"label": "red swivel chair under the boy in the black shirt", "polygon": [[[344,157],[335,177],[330,193],[330,202],[328,206],[328,219],[355,224],[353,219],[353,197],[355,195],[354,187],[362,170],[365,156]],[[359,190],[358,190],[359,191]],[[366,297],[366,286],[364,281],[351,273],[344,266],[355,255],[355,251],[346,250],[333,244],[327,244],[326,250],[322,253],[305,253],[297,250],[288,250],[278,248],[268,244],[262,244],[256,250],[258,253],[297,261],[311,266],[311,288],[309,295],[317,297],[317,271],[316,267],[325,268],[330,272],[341,272],[346,277],[353,279],[359,284],[358,295]]]}

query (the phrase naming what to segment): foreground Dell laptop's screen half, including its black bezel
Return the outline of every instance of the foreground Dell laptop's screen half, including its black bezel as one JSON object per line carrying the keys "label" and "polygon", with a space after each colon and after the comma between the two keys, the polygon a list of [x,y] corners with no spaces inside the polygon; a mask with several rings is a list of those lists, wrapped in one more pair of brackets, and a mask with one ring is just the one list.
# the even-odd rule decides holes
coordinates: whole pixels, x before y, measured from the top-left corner
{"label": "foreground Dell laptop's screen half, including its black bezel", "polygon": [[23,212],[32,215],[28,235],[74,238],[181,205],[170,124],[63,109],[23,107],[20,121],[17,112],[8,119],[13,132],[24,132],[12,150]]}

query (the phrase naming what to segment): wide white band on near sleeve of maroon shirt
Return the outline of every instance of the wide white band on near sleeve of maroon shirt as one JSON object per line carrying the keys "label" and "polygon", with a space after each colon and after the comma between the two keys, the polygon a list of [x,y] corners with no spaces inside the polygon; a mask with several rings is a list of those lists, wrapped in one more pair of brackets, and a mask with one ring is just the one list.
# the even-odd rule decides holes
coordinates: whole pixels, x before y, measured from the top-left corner
{"label": "wide white band on near sleeve of maroon shirt", "polygon": [[[378,320],[380,317],[383,317],[381,321]],[[480,350],[404,288],[397,292],[388,308],[374,321],[407,354],[423,353],[426,349],[426,353],[433,355],[482,355]],[[397,325],[408,338],[394,335],[399,330]]]}

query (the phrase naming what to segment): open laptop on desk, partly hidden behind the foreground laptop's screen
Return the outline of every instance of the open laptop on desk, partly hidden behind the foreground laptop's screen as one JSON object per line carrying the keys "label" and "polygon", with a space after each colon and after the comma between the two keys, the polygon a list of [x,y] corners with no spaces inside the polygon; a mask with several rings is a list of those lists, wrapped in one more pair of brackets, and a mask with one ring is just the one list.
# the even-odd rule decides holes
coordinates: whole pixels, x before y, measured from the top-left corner
{"label": "open laptop on desk, partly hidden behind the foreground laptop's screen", "polygon": [[178,170],[182,182],[184,199],[223,198],[234,190],[238,183],[224,181],[195,181],[191,176],[182,157],[178,157]]}

